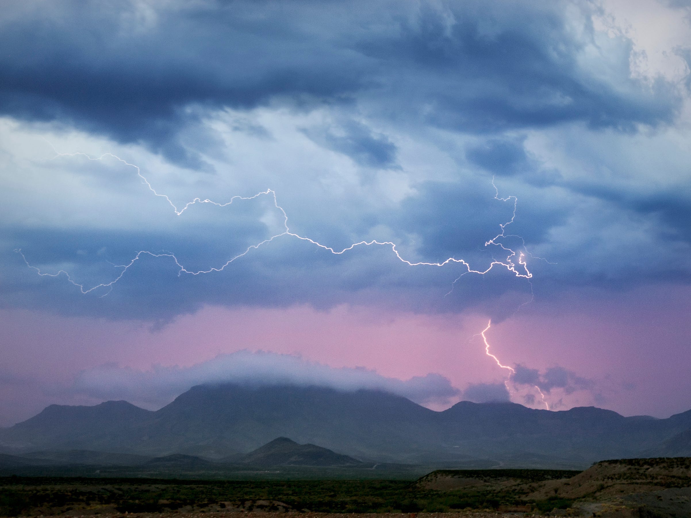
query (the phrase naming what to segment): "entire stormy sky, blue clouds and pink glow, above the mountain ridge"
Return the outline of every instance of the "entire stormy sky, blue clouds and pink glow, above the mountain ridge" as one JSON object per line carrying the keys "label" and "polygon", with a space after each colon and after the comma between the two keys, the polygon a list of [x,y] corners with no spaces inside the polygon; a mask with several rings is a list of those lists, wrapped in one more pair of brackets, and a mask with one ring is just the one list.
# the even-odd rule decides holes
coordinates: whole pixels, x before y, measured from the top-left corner
{"label": "entire stormy sky, blue clouds and pink glow, above the mountain ridge", "polygon": [[691,408],[688,1],[29,0],[0,46],[0,425]]}

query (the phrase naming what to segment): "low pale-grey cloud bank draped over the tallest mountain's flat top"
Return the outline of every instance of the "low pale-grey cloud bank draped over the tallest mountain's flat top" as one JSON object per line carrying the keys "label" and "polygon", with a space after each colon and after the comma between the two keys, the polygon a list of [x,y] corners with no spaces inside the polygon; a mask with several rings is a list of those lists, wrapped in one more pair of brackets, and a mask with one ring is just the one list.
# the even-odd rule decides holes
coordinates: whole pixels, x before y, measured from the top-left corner
{"label": "low pale-grey cloud bank draped over the tallest mountain's flat top", "polygon": [[222,354],[191,367],[155,366],[141,371],[102,365],[80,372],[73,390],[96,399],[126,399],[152,406],[165,405],[193,385],[203,383],[317,385],[344,392],[383,390],[421,404],[448,403],[449,399],[460,394],[460,390],[440,374],[400,380],[381,376],[364,367],[336,368],[290,354],[249,351]]}

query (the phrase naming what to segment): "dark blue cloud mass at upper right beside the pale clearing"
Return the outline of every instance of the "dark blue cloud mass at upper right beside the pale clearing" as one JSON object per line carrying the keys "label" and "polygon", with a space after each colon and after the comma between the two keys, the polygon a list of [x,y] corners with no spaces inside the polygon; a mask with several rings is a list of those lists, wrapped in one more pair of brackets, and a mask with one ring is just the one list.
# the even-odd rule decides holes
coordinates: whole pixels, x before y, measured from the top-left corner
{"label": "dark blue cloud mass at upper right beside the pale clearing", "polygon": [[[449,26],[442,13],[422,4],[396,37],[372,38],[361,48],[396,70],[419,73],[401,81],[410,97],[432,106],[425,119],[437,126],[484,132],[582,120],[629,130],[634,122],[669,120],[676,102],[663,81],[643,93],[620,61],[616,75],[629,90],[621,93],[578,66],[576,55],[589,42],[569,37],[560,12],[567,5],[466,3],[462,12],[450,9],[457,23]],[[623,58],[630,48],[621,45],[616,52]]]}

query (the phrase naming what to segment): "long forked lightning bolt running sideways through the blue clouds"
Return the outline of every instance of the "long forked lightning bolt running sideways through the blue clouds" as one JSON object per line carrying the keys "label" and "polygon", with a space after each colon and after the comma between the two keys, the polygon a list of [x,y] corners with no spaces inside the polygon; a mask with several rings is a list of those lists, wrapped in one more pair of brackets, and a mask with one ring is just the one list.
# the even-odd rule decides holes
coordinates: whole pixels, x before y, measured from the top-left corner
{"label": "long forked lightning bolt running sideways through the blue clouds", "polygon": [[[48,144],[50,144],[50,142]],[[52,144],[50,144],[50,146],[53,147]],[[21,249],[15,250],[17,253],[19,253],[21,255],[24,262],[26,262],[26,265],[29,268],[34,269],[37,272],[37,274],[39,274],[39,276],[58,277],[58,276],[64,275],[64,276],[66,276],[68,282],[70,282],[71,284],[73,284],[79,288],[79,291],[81,291],[82,294],[88,294],[91,291],[94,291],[95,289],[99,289],[99,288],[108,288],[108,291],[103,296],[107,295],[108,293],[110,293],[110,289],[112,289],[113,285],[115,285],[115,283],[118,282],[122,278],[122,276],[124,276],[125,272],[132,265],[134,265],[135,262],[140,260],[140,258],[142,258],[142,256],[151,256],[153,258],[170,258],[171,260],[173,260],[173,262],[175,262],[176,266],[178,267],[178,276],[180,276],[182,274],[191,274],[191,275],[210,274],[211,272],[214,272],[214,271],[223,271],[232,262],[234,262],[235,260],[242,258],[243,256],[247,255],[247,253],[249,253],[253,249],[258,249],[263,244],[267,244],[267,243],[272,242],[273,240],[275,240],[277,238],[281,238],[283,236],[290,236],[291,238],[296,238],[299,240],[310,242],[311,244],[314,244],[314,246],[319,247],[320,249],[323,249],[325,251],[328,251],[334,255],[341,255],[347,251],[350,251],[350,250],[352,250],[356,247],[360,247],[360,246],[369,247],[372,245],[377,245],[377,246],[381,246],[381,247],[390,247],[391,251],[394,253],[394,255],[396,256],[396,258],[398,260],[400,260],[401,262],[404,262],[406,265],[411,266],[411,267],[412,266],[444,267],[448,264],[455,263],[458,265],[462,265],[462,267],[464,267],[464,269],[466,270],[461,275],[465,275],[465,274],[484,275],[484,274],[487,274],[489,271],[491,271],[491,269],[493,269],[494,267],[504,267],[505,269],[507,269],[508,271],[511,271],[516,277],[519,277],[519,278],[524,278],[524,279],[529,280],[533,276],[533,274],[531,273],[531,271],[529,271],[529,269],[527,267],[525,255],[522,251],[516,252],[513,249],[504,247],[504,244],[502,244],[501,242],[498,242],[498,240],[500,238],[507,237],[504,235],[505,229],[509,224],[513,223],[513,220],[515,219],[515,213],[516,213],[516,207],[518,204],[518,198],[516,198],[515,196],[509,196],[507,198],[500,198],[497,186],[494,184],[494,179],[492,180],[492,185],[494,186],[494,189],[495,189],[495,197],[494,198],[496,200],[500,200],[502,202],[509,202],[509,201],[513,200],[513,213],[511,215],[511,220],[509,220],[508,222],[506,222],[504,224],[500,224],[501,232],[498,233],[497,236],[495,236],[491,240],[485,242],[486,247],[489,245],[495,245],[495,246],[500,247],[502,250],[506,251],[507,257],[504,260],[493,259],[492,262],[490,263],[489,267],[482,270],[482,269],[473,269],[471,267],[471,265],[468,262],[466,262],[465,260],[457,259],[457,258],[453,258],[453,257],[450,257],[450,258],[448,258],[442,262],[425,262],[425,261],[413,262],[413,261],[410,261],[410,260],[404,258],[403,256],[401,256],[401,253],[397,249],[396,244],[392,241],[377,241],[377,240],[366,241],[366,240],[363,240],[363,241],[355,242],[355,243],[351,244],[350,246],[345,247],[341,250],[334,249],[334,248],[329,247],[325,244],[322,244],[320,242],[312,240],[311,238],[301,236],[300,234],[291,231],[291,229],[288,225],[287,213],[285,212],[283,207],[281,207],[281,205],[278,204],[278,198],[276,196],[276,192],[273,191],[272,189],[267,189],[266,191],[261,191],[259,193],[252,195],[252,196],[247,196],[247,197],[236,195],[236,196],[233,196],[232,198],[230,198],[229,201],[223,202],[223,203],[215,202],[213,200],[209,200],[208,198],[206,198],[204,200],[202,200],[201,198],[194,198],[190,202],[187,202],[186,204],[184,204],[184,206],[182,206],[182,208],[179,209],[176,206],[176,204],[173,203],[173,200],[171,200],[171,198],[169,198],[168,195],[159,193],[158,191],[156,191],[156,189],[154,189],[154,187],[151,185],[149,180],[147,180],[144,177],[144,175],[142,175],[142,171],[141,171],[139,166],[137,166],[135,164],[131,164],[131,163],[127,162],[126,160],[123,160],[122,158],[118,157],[117,155],[114,155],[113,153],[104,153],[103,155],[100,155],[100,157],[91,157],[90,155],[87,155],[86,153],[79,153],[79,152],[77,152],[77,153],[60,153],[59,151],[55,150],[55,147],[53,147],[53,151],[55,151],[55,153],[56,153],[56,155],[55,155],[55,157],[53,157],[53,159],[55,159],[57,157],[82,156],[88,160],[93,160],[93,161],[102,161],[105,158],[113,158],[114,160],[117,160],[118,162],[122,162],[122,164],[124,164],[125,166],[128,166],[128,167],[135,169],[137,176],[138,176],[138,178],[140,178],[140,181],[142,182],[142,184],[145,184],[146,187],[149,189],[149,191],[151,191],[151,193],[153,193],[153,195],[155,195],[158,198],[163,198],[164,200],[166,200],[166,202],[173,209],[173,212],[178,216],[181,216],[182,213],[184,213],[184,211],[187,211],[187,209],[189,209],[189,207],[191,207],[194,204],[209,203],[209,204],[216,205],[217,207],[227,207],[230,204],[232,204],[233,202],[235,202],[236,200],[243,200],[243,201],[254,200],[255,198],[258,198],[260,196],[271,197],[272,202],[274,204],[274,207],[278,211],[280,211],[281,214],[283,215],[283,231],[282,232],[277,233],[274,236],[271,236],[270,238],[262,240],[261,242],[250,245],[249,247],[247,247],[247,249],[245,249],[245,251],[243,251],[242,253],[238,253],[236,256],[230,258],[223,265],[219,265],[217,267],[212,267],[212,268],[209,268],[206,270],[197,270],[197,271],[188,270],[182,264],[180,264],[180,262],[178,261],[178,258],[176,258],[175,254],[173,254],[173,253],[167,253],[167,252],[166,253],[155,253],[152,251],[140,250],[135,254],[134,258],[132,258],[128,263],[126,263],[126,265],[119,265],[122,268],[122,271],[120,272],[120,274],[118,276],[115,277],[115,279],[111,280],[110,282],[102,282],[102,283],[94,285],[92,287],[86,287],[84,284],[75,281],[73,279],[73,277],[65,270],[59,270],[55,274],[44,273],[43,271],[41,271],[41,269],[39,269],[38,267],[32,266],[30,264],[30,262],[28,262],[26,256],[21,251]],[[514,260],[516,260],[516,262],[514,262]],[[456,280],[458,280],[458,279],[456,279]],[[455,282],[456,281],[454,281],[454,283]],[[452,285],[452,289],[453,289],[453,285]],[[511,368],[511,367],[504,367],[504,368]]]}

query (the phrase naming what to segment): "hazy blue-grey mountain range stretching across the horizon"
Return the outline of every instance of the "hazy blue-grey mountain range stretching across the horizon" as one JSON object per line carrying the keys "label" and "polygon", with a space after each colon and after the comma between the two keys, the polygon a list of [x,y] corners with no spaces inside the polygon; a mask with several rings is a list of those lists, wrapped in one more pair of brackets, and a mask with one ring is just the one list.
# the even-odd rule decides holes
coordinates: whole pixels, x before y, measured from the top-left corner
{"label": "hazy blue-grey mountain range stretching across the horizon", "polygon": [[126,401],[50,405],[0,429],[0,453],[26,459],[52,452],[56,462],[70,450],[132,464],[175,454],[240,461],[260,448],[249,462],[262,465],[262,454],[293,447],[285,441],[307,443],[311,450],[301,454],[321,454],[330,465],[335,455],[351,466],[585,468],[603,459],[691,455],[691,410],[654,419],[596,407],[553,412],[462,401],[435,412],[375,390],[224,384],[192,387],[156,411]]}

